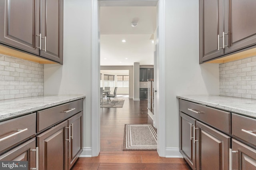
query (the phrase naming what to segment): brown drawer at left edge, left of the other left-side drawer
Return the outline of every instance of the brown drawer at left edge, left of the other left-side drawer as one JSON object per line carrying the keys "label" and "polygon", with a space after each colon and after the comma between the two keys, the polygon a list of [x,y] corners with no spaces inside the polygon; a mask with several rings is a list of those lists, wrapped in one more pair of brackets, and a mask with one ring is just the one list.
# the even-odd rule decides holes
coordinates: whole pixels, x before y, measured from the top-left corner
{"label": "brown drawer at left edge, left of the other left-side drawer", "polygon": [[0,152],[36,135],[36,113],[0,123]]}

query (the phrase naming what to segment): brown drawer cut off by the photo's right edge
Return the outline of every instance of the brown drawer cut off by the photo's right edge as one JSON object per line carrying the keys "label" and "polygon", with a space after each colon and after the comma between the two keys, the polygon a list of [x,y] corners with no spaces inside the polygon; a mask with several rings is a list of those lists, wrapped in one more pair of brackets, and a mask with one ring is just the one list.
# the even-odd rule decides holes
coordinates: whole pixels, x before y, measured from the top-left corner
{"label": "brown drawer cut off by the photo's right edge", "polygon": [[232,113],[232,135],[256,147],[256,119]]}

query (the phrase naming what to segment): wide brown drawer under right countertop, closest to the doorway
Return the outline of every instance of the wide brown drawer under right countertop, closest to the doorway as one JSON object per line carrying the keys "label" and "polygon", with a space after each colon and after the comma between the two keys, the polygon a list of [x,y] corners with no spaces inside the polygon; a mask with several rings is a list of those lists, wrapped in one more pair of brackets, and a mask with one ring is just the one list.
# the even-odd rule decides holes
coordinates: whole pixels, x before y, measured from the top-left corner
{"label": "wide brown drawer under right countertop, closest to the doorway", "polygon": [[230,132],[231,113],[179,99],[179,109],[222,132]]}

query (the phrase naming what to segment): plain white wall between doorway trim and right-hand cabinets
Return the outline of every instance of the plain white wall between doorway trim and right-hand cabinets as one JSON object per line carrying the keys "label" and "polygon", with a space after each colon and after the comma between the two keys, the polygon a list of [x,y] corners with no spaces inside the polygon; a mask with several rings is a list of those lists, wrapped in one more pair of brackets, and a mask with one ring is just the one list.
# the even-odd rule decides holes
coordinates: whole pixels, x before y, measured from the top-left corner
{"label": "plain white wall between doorway trim and right-hand cabinets", "polygon": [[[178,148],[178,99],[219,94],[218,64],[199,65],[198,0],[165,0],[166,148]],[[159,89],[161,90],[161,89]]]}

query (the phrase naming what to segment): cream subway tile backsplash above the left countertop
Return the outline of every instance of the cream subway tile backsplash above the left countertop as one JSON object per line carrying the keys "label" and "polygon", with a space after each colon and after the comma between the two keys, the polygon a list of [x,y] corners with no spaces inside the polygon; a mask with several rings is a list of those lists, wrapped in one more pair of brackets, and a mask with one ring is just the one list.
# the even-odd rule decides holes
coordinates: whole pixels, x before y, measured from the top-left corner
{"label": "cream subway tile backsplash above the left countertop", "polygon": [[44,95],[44,65],[0,54],[0,100]]}

